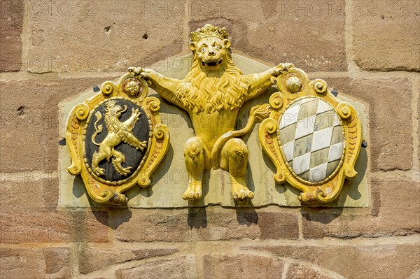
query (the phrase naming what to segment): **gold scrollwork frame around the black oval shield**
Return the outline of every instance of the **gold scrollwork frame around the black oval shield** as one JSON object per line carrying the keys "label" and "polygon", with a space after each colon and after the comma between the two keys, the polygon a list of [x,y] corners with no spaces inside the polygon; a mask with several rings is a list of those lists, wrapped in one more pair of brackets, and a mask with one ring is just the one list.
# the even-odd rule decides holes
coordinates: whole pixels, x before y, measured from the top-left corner
{"label": "gold scrollwork frame around the black oval shield", "polygon": [[[144,110],[150,133],[147,150],[141,163],[132,176],[120,181],[106,181],[98,178],[88,166],[85,154],[85,134],[87,124],[90,122],[94,111],[104,101],[111,99],[123,99],[131,101]],[[83,178],[87,194],[97,203],[122,205],[128,199],[123,194],[127,189],[139,185],[148,187],[151,185],[151,174],[165,157],[169,149],[169,129],[162,124],[158,110],[159,99],[148,96],[148,84],[143,78],[135,76],[133,71],[123,75],[117,83],[106,81],[101,90],[90,99],[76,105],[69,115],[66,126],[66,145],[71,155],[71,166],[68,171],[71,175],[78,174]]]}

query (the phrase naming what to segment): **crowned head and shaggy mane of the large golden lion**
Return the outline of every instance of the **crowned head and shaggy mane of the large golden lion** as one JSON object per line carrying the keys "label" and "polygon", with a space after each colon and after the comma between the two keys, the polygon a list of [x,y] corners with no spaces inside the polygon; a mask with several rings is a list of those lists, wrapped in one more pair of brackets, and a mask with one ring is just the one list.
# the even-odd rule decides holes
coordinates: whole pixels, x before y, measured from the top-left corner
{"label": "crowned head and shaggy mane of the large golden lion", "polygon": [[194,113],[239,108],[249,83],[232,60],[226,29],[206,24],[191,33],[190,48],[193,65],[177,88],[184,106]]}

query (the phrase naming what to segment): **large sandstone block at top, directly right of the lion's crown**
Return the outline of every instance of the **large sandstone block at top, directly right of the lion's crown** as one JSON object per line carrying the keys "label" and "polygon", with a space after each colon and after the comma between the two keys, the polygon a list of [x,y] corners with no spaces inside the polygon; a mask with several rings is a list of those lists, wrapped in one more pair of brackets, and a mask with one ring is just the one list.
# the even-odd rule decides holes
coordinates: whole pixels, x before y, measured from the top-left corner
{"label": "large sandstone block at top, directly right of the lion's crown", "polygon": [[190,31],[206,23],[226,27],[234,51],[308,72],[347,69],[344,0],[192,1],[190,15]]}

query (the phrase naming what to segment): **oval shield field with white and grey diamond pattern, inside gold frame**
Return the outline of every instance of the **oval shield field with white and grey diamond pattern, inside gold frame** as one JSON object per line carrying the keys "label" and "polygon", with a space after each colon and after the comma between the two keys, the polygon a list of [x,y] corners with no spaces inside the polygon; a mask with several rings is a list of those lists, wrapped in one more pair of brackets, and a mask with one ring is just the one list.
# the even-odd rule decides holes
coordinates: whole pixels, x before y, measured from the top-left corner
{"label": "oval shield field with white and grey diamond pattern, inside gold frame", "polygon": [[337,169],[345,147],[339,116],[330,104],[314,97],[299,99],[286,109],[279,122],[279,141],[288,166],[311,183]]}

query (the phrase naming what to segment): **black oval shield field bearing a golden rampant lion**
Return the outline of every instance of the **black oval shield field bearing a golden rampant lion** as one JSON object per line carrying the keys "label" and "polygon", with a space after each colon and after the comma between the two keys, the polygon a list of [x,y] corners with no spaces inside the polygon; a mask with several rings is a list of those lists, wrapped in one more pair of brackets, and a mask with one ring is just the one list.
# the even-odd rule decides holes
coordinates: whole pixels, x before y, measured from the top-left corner
{"label": "black oval shield field bearing a golden rampant lion", "polygon": [[150,120],[133,101],[106,99],[85,126],[84,161],[94,178],[120,184],[141,168],[150,138]]}

